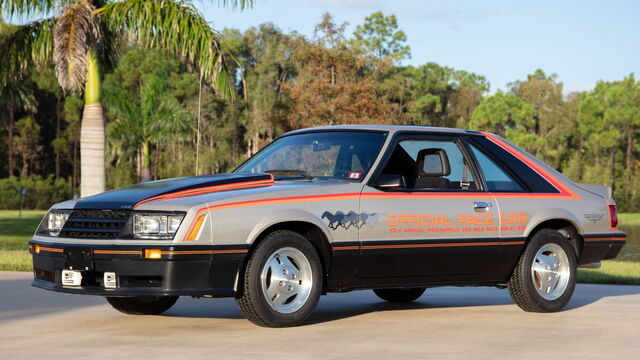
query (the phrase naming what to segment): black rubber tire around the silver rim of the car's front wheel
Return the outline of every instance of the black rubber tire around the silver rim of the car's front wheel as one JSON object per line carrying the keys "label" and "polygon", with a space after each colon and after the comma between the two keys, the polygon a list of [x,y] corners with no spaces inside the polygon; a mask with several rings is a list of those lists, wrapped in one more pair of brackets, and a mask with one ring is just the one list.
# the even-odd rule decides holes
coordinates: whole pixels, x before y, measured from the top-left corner
{"label": "black rubber tire around the silver rim of the car's front wheel", "polygon": [[[267,260],[283,248],[299,250],[307,259],[312,279],[311,291],[306,302],[292,313],[282,313],[274,309],[263,294],[261,274]],[[274,231],[267,235],[251,253],[244,272],[239,297],[236,303],[244,316],[252,323],[265,327],[287,327],[302,324],[316,308],[322,292],[322,263],[313,245],[302,235],[286,230]]]}

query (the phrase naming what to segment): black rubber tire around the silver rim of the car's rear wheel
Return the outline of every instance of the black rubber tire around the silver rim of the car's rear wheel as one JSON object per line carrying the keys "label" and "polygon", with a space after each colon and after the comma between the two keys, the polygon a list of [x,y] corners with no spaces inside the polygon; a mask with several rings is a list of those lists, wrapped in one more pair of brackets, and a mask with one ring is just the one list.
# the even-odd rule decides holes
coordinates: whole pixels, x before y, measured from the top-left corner
{"label": "black rubber tire around the silver rim of the car's rear wheel", "polygon": [[[566,288],[558,298],[553,300],[545,299],[538,293],[534,285],[534,281],[536,280],[534,275],[532,275],[534,258],[538,251],[547,244],[556,244],[564,251],[568,259],[569,267],[569,278]],[[507,283],[511,298],[524,311],[559,311],[567,305],[573,295],[576,286],[577,267],[576,252],[566,237],[556,230],[542,229],[529,240],[524,253],[520,256],[520,260],[516,264],[513,274]]]}

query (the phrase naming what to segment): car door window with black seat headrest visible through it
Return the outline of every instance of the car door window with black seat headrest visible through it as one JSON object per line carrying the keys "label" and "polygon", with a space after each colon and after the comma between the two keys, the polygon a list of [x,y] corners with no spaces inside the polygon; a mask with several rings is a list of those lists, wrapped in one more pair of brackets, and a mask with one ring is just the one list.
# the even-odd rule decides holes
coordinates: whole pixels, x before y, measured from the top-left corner
{"label": "car door window with black seat headrest visible through it", "polygon": [[407,188],[477,190],[464,153],[453,140],[402,140],[383,173],[402,175]]}

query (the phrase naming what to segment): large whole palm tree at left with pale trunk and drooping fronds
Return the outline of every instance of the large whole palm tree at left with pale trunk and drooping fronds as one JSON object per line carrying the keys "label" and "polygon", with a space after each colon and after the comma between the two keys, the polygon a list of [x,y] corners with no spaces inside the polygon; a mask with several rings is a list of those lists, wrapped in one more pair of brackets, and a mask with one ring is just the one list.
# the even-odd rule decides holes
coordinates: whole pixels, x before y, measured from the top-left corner
{"label": "large whole palm tree at left with pale trunk and drooping fronds", "polygon": [[[253,0],[215,2],[244,8]],[[0,86],[6,86],[11,74],[53,62],[63,90],[84,90],[82,196],[105,189],[100,69],[113,65],[120,39],[172,53],[197,66],[201,78],[211,81],[220,94],[234,96],[222,39],[190,0],[0,0],[0,17],[50,14],[54,16],[16,26],[0,38]]]}

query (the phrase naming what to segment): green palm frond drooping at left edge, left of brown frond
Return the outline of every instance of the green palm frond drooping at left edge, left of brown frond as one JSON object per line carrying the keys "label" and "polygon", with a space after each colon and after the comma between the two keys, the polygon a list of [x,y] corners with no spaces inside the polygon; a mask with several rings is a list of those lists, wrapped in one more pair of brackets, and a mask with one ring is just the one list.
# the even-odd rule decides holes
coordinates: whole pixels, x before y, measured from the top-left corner
{"label": "green palm frond drooping at left edge, left of brown frond", "polygon": [[0,34],[0,85],[52,57],[53,19],[14,25]]}

